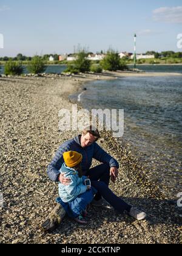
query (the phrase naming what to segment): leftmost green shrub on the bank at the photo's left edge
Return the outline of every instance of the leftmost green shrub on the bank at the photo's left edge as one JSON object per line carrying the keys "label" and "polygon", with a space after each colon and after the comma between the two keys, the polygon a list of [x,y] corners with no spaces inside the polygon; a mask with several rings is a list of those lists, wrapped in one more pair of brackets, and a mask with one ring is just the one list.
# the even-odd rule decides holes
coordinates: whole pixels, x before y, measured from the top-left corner
{"label": "leftmost green shrub on the bank at the photo's left edge", "polygon": [[24,71],[24,68],[22,66],[21,62],[13,62],[12,60],[9,60],[7,63],[5,63],[4,66],[4,74],[6,76],[8,75],[21,75]]}

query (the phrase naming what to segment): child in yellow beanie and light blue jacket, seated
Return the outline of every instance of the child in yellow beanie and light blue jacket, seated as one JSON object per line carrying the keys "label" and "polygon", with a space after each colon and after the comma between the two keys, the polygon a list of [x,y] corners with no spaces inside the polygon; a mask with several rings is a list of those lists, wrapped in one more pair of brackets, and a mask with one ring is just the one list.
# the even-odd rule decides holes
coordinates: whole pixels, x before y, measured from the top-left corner
{"label": "child in yellow beanie and light blue jacket, seated", "polygon": [[71,182],[64,185],[59,182],[59,196],[57,202],[64,207],[67,214],[75,221],[87,224],[85,219],[87,205],[92,202],[96,190],[91,185],[85,185],[85,180],[81,169],[83,156],[75,151],[64,152],[64,163],[60,172],[65,177],[69,177]]}

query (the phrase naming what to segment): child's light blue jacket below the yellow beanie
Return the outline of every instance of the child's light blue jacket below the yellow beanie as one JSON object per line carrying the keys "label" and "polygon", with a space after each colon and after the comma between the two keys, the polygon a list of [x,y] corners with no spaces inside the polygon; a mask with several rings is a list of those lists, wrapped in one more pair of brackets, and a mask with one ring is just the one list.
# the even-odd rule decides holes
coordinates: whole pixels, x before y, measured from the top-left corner
{"label": "child's light blue jacket below the yellow beanie", "polygon": [[87,179],[86,176],[79,178],[78,171],[67,167],[65,163],[63,163],[59,172],[65,172],[64,176],[69,177],[71,180],[67,186],[59,182],[59,196],[63,202],[72,202],[79,194],[83,194],[87,191],[87,186],[84,185],[84,180]]}

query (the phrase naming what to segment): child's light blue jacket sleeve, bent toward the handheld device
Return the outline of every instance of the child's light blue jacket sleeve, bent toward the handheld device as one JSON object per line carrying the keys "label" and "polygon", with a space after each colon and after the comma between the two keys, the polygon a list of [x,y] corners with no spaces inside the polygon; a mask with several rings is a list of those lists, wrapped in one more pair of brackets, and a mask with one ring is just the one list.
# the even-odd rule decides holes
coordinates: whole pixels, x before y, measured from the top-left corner
{"label": "child's light blue jacket sleeve, bent toward the handheld device", "polygon": [[65,186],[65,190],[68,194],[71,196],[79,196],[79,194],[83,194],[87,191],[87,186],[83,183],[79,183],[79,185],[76,185],[76,176],[70,176],[71,182],[68,186]]}

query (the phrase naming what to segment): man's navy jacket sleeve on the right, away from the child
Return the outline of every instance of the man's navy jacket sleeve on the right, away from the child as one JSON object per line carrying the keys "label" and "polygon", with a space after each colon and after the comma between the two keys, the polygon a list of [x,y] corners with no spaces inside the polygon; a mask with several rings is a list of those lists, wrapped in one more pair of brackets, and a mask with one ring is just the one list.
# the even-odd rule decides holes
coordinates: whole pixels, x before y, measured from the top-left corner
{"label": "man's navy jacket sleeve on the right, away from the child", "polygon": [[97,143],[94,143],[93,158],[101,163],[108,163],[110,167],[119,168],[118,162],[104,151]]}

